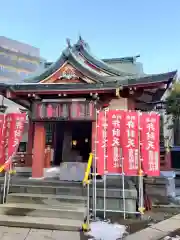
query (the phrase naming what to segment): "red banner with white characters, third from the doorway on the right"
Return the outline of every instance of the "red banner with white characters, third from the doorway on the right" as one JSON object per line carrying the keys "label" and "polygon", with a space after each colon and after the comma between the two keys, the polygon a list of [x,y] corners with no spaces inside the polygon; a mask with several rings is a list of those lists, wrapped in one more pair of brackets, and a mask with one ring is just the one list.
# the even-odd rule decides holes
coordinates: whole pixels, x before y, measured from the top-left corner
{"label": "red banner with white characters, third from the doorway on the right", "polygon": [[139,166],[138,113],[127,111],[124,119],[123,171],[127,176],[136,176]]}

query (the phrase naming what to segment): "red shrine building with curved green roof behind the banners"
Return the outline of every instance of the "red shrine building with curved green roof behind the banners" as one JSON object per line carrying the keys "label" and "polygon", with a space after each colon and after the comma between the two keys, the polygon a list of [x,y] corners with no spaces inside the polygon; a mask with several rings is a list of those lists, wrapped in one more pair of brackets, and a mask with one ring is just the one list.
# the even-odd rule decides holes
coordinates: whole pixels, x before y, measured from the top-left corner
{"label": "red shrine building with curved green roof behind the banners", "polygon": [[44,169],[78,161],[75,150],[86,163],[94,152],[97,109],[152,111],[175,77],[176,71],[146,75],[116,69],[96,58],[81,37],[69,42],[43,72],[21,83],[0,83],[0,94],[28,110],[27,149],[18,166],[42,178]]}

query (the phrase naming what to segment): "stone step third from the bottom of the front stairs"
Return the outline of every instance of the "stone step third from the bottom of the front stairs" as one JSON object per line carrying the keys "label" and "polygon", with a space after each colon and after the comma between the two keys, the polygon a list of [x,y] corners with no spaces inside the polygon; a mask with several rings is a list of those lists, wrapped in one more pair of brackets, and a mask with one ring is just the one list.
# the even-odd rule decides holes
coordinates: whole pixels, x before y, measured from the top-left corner
{"label": "stone step third from the bottom of the front stairs", "polygon": [[33,203],[44,205],[56,205],[62,203],[85,204],[86,198],[76,195],[53,195],[53,194],[32,194],[32,193],[10,193],[7,197],[8,203]]}

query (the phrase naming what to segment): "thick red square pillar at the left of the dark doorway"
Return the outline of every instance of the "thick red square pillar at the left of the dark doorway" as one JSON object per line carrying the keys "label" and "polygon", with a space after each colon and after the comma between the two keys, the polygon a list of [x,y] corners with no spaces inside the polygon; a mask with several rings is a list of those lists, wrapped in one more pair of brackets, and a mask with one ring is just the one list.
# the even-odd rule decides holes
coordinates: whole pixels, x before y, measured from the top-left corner
{"label": "thick red square pillar at the left of the dark doorway", "polygon": [[34,124],[34,148],[32,161],[32,178],[42,178],[44,173],[45,128],[43,122]]}

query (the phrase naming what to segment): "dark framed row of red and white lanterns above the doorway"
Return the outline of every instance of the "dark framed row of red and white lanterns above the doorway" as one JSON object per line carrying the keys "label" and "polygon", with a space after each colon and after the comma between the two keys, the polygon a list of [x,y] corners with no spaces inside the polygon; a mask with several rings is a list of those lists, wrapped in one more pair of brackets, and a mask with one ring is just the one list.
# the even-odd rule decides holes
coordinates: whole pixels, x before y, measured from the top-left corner
{"label": "dark framed row of red and white lanterns above the doorway", "polygon": [[94,104],[92,102],[53,102],[34,103],[33,120],[94,120]]}

